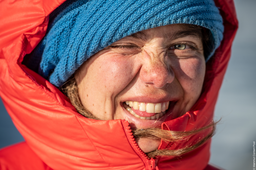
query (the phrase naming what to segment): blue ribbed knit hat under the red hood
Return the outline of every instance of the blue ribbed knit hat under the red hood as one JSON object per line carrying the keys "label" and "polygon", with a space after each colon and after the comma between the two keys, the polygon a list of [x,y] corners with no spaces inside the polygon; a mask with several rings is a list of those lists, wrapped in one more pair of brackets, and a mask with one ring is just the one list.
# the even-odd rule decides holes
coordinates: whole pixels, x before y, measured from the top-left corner
{"label": "blue ribbed knit hat under the red hood", "polygon": [[86,59],[117,40],[177,23],[211,30],[214,51],[223,38],[213,0],[68,0],[51,13],[47,33],[31,57],[41,61],[38,73],[60,87]]}

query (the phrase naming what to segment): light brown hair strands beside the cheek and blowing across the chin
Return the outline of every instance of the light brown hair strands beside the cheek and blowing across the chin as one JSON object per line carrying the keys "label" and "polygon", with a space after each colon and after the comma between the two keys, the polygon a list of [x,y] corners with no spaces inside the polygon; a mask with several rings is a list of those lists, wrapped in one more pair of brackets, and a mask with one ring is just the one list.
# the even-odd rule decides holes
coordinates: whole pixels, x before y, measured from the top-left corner
{"label": "light brown hair strands beside the cheek and blowing across the chin", "polygon": [[[99,120],[99,118],[95,117],[92,113],[87,111],[87,109],[83,106],[83,104],[80,101],[78,89],[76,80],[74,78],[71,78],[69,81],[67,81],[63,86],[60,88],[64,91],[64,93],[67,95],[67,97],[70,99],[71,104],[76,108],[77,112],[79,112],[84,117],[87,117],[89,119],[95,119]],[[208,133],[204,138],[197,141],[196,144],[191,144],[191,146],[186,146],[185,148],[178,149],[178,150],[155,150],[149,153],[146,153],[148,157],[153,158],[156,156],[181,156],[182,154],[188,153],[189,151],[192,151],[204,144],[209,138],[211,138],[215,134],[215,127],[217,122],[212,122],[211,124],[202,127],[197,128],[192,131],[169,131],[169,130],[162,130],[161,128],[147,128],[147,129],[135,129],[132,130],[133,135],[136,138],[152,138],[157,140],[163,140],[167,143],[169,142],[177,142],[177,141],[184,141],[189,140],[193,135],[202,133],[206,130],[210,130],[210,133]]]}

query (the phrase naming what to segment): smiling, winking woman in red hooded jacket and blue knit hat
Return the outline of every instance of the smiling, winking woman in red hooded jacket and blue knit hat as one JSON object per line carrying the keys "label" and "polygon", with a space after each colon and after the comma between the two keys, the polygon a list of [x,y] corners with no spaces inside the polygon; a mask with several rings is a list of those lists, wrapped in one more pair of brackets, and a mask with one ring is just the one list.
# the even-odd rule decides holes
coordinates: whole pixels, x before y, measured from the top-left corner
{"label": "smiling, winking woman in red hooded jacket and blue knit hat", "polygon": [[215,3],[40,3],[1,47],[0,95],[26,140],[0,151],[1,169],[214,170],[213,111],[237,28],[232,3]]}

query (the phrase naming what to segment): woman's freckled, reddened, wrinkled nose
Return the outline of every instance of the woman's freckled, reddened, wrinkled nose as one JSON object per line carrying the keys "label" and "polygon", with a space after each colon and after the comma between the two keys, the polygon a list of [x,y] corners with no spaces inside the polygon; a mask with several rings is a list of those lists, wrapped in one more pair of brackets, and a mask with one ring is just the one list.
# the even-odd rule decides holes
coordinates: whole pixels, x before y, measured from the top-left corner
{"label": "woman's freckled, reddened, wrinkled nose", "polygon": [[140,71],[142,82],[148,85],[151,84],[156,88],[162,88],[164,85],[173,81],[174,72],[166,61],[168,56],[150,55],[145,58],[147,59],[144,60]]}

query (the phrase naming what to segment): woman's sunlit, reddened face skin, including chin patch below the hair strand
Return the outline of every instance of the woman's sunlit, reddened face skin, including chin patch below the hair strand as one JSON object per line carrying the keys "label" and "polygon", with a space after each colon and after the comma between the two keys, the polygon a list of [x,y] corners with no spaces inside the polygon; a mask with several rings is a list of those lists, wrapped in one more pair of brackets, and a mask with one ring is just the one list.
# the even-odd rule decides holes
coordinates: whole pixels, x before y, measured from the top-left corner
{"label": "woman's sunlit, reddened face skin, including chin patch below the hair strand", "polygon": [[[201,35],[172,24],[118,40],[84,62],[75,78],[82,104],[97,118],[127,120],[131,128],[145,129],[189,111],[204,76]],[[160,141],[137,143],[147,153]]]}

